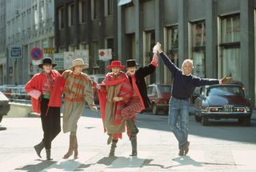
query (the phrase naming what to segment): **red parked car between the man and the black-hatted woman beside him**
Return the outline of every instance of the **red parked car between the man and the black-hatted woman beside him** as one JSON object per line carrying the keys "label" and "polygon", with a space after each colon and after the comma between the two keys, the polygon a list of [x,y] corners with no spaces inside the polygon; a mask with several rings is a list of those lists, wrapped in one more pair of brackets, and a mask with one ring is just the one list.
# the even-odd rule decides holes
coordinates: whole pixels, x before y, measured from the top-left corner
{"label": "red parked car between the man and the black-hatted woman beside him", "polygon": [[158,114],[160,110],[168,114],[169,101],[171,97],[171,86],[163,84],[150,84],[147,86],[147,95],[150,98],[153,114]]}

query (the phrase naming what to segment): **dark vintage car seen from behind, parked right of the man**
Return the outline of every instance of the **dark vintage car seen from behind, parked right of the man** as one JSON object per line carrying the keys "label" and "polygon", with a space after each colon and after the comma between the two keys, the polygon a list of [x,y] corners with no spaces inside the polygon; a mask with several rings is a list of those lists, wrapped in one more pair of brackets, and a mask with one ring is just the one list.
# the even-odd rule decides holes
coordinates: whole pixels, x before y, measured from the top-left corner
{"label": "dark vintage car seen from behind, parked right of the man", "polygon": [[244,90],[238,84],[204,86],[194,106],[197,109],[194,118],[203,126],[210,118],[237,118],[243,126],[250,126],[250,100],[245,98]]}

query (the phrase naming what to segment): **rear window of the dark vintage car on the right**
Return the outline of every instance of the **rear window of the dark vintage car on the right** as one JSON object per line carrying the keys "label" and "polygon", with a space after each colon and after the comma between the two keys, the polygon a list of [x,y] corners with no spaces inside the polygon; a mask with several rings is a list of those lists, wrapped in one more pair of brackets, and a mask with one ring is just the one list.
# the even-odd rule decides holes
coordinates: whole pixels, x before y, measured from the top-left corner
{"label": "rear window of the dark vintage car on the right", "polygon": [[239,86],[214,86],[211,87],[207,96],[210,95],[241,95],[243,96],[243,92],[241,87]]}

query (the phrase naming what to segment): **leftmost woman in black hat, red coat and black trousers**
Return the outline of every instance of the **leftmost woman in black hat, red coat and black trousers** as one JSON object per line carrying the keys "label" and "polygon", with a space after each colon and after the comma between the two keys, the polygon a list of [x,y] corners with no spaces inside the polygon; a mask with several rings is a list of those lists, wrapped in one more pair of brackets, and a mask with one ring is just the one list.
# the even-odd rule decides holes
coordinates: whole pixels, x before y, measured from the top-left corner
{"label": "leftmost woman in black hat, red coat and black trousers", "polygon": [[43,71],[34,74],[26,83],[25,90],[31,96],[33,111],[41,114],[43,138],[42,142],[34,146],[34,150],[41,157],[41,151],[46,148],[46,158],[50,158],[51,142],[61,131],[60,107],[62,106],[62,91],[65,81],[57,70],[51,58],[44,58],[38,67]]}

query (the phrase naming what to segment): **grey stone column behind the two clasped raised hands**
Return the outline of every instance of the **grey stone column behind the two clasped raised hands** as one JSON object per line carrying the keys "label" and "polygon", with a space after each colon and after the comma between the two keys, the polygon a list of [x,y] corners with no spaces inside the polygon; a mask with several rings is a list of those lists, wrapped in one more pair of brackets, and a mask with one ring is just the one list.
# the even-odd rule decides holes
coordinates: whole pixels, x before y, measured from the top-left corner
{"label": "grey stone column behind the two clasped raised hands", "polygon": [[[164,42],[163,39],[163,1],[155,1],[155,40],[157,42]],[[162,45],[163,46],[163,45]],[[164,82],[164,64],[160,57],[158,58],[158,68],[155,71],[155,82],[163,83]]]}

